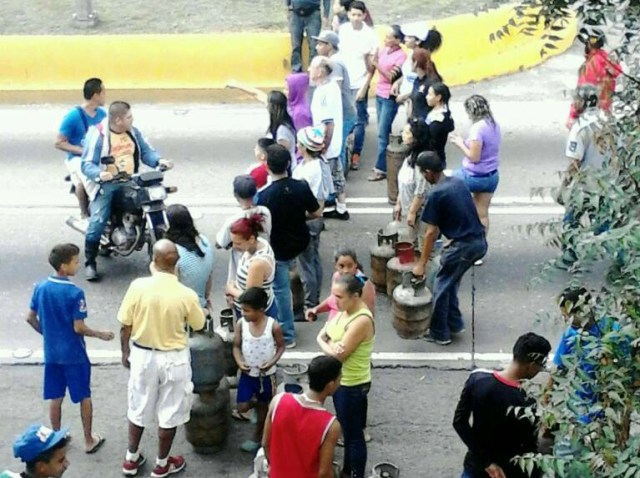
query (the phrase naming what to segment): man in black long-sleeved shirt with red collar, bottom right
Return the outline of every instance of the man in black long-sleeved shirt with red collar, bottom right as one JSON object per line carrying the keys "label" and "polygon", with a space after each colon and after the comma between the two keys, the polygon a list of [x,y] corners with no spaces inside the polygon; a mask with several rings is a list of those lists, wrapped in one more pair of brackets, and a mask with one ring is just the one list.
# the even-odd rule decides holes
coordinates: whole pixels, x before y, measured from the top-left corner
{"label": "man in black long-sleeved shirt with red collar, bottom right", "polygon": [[[513,347],[513,360],[500,372],[478,369],[462,389],[453,428],[467,445],[462,478],[535,478],[511,460],[537,451],[537,424],[515,407],[530,407],[535,400],[520,387],[544,369],[551,344],[532,332]],[[469,420],[473,424],[470,424]]]}

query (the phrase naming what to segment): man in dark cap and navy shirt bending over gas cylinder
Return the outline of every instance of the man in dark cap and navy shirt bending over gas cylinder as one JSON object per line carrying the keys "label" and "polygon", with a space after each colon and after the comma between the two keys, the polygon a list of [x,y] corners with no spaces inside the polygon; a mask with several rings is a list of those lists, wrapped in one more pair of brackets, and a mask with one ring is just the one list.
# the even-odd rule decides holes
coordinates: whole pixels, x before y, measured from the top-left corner
{"label": "man in dark cap and navy shirt bending over gas cylinder", "polygon": [[439,345],[449,345],[451,334],[464,331],[458,307],[460,279],[475,261],[487,253],[487,241],[465,183],[455,177],[446,177],[442,173],[442,161],[432,151],[420,153],[416,165],[434,187],[422,212],[422,221],[427,224],[427,229],[422,254],[413,268],[414,275],[424,275],[440,233],[451,241],[440,257],[440,269],[433,283],[431,327],[424,338]]}

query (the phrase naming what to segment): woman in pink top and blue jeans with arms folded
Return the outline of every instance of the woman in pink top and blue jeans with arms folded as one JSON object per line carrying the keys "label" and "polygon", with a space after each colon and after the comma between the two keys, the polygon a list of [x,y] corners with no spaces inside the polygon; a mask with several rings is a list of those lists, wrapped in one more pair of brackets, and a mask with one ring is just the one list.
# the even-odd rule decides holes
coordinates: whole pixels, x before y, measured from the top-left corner
{"label": "woman in pink top and blue jeans with arms folded", "polygon": [[369,181],[381,181],[387,177],[387,145],[391,125],[398,112],[396,97],[391,95],[391,85],[398,79],[400,68],[407,59],[407,54],[400,44],[404,40],[402,30],[398,25],[389,27],[384,37],[384,48],[377,56],[372,57],[372,66],[378,71],[378,86],[376,87],[376,116],[378,117],[378,159],[373,175]]}

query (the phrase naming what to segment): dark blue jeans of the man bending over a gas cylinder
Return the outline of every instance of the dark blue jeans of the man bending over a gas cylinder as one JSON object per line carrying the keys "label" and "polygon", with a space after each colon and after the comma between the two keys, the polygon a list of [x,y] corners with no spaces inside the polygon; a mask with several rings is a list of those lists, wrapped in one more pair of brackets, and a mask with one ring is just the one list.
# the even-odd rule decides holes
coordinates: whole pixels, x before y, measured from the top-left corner
{"label": "dark blue jeans of the man bending over a gas cylinder", "polygon": [[440,269],[433,283],[433,308],[430,334],[437,340],[449,340],[451,332],[464,328],[458,306],[460,279],[475,261],[487,253],[484,235],[466,241],[453,241],[442,249]]}

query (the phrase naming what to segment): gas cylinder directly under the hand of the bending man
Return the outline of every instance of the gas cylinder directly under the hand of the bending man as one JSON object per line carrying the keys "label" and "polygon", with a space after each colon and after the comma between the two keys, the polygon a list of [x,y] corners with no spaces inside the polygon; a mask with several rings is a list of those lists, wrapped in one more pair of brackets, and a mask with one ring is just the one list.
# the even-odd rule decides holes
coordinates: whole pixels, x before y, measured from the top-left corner
{"label": "gas cylinder directly under the hand of the bending man", "polygon": [[402,275],[402,284],[393,291],[392,324],[403,339],[422,337],[431,323],[431,292],[425,281],[408,271]]}

